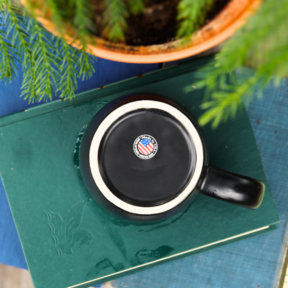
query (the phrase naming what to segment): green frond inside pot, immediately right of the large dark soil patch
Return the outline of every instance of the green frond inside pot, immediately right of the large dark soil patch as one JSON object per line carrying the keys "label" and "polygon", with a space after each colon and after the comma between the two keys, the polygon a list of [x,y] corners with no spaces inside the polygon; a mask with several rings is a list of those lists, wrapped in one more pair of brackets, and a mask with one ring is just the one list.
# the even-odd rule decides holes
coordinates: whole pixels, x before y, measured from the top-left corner
{"label": "green frond inside pot, immediately right of the large dark soil patch", "polygon": [[207,12],[213,7],[213,0],[181,0],[178,3],[177,20],[179,28],[176,38],[189,37],[205,22]]}

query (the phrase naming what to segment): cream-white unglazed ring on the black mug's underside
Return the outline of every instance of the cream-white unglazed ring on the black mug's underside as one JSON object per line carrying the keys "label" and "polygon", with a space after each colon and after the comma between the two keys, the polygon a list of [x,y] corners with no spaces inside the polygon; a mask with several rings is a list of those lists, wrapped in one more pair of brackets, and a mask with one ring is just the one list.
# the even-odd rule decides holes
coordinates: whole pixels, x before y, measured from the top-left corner
{"label": "cream-white unglazed ring on the black mug's underside", "polygon": [[[98,149],[101,139],[104,136],[106,130],[119,117],[130,111],[134,111],[137,109],[160,109],[170,113],[186,128],[187,132],[190,134],[191,139],[193,139],[195,145],[196,165],[194,174],[190,182],[176,198],[158,206],[151,206],[151,207],[135,206],[119,199],[106,186],[105,182],[101,177],[101,173],[98,166]],[[191,191],[194,190],[202,172],[203,162],[204,162],[204,149],[202,145],[202,140],[193,123],[187,118],[187,116],[185,116],[181,111],[179,111],[175,107],[160,101],[153,101],[153,100],[140,100],[130,102],[112,111],[97,128],[91,141],[89,150],[89,165],[91,174],[95,181],[95,184],[97,185],[98,189],[103,194],[103,196],[120,209],[139,215],[151,215],[151,214],[163,213],[170,209],[173,209],[175,206],[181,203],[191,193]]]}

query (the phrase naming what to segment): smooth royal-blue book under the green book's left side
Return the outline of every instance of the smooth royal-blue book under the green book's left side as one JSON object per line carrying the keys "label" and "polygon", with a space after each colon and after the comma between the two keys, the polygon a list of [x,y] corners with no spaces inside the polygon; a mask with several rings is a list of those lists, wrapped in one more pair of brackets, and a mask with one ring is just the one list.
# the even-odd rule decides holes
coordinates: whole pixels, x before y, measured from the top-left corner
{"label": "smooth royal-blue book under the green book's left side", "polygon": [[[1,54],[1,51],[0,51]],[[158,69],[159,64],[129,64],[114,62],[98,58],[94,63],[95,73],[88,80],[78,80],[77,91],[80,93],[93,88],[105,86],[129,77],[141,75]],[[42,104],[31,103],[19,97],[22,83],[21,66],[17,63],[18,77],[11,83],[0,82],[0,116],[25,110],[29,107]],[[54,99],[56,99],[54,97]],[[0,263],[20,268],[27,268],[20,240],[16,231],[8,200],[0,179]]]}

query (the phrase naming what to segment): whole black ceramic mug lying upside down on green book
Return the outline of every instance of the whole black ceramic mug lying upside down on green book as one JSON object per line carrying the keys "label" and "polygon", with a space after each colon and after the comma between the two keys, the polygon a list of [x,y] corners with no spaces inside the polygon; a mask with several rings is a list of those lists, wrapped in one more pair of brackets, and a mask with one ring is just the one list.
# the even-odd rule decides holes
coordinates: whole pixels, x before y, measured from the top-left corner
{"label": "whole black ceramic mug lying upside down on green book", "polygon": [[261,204],[261,181],[209,166],[206,158],[192,116],[149,93],[126,95],[103,107],[85,129],[79,150],[92,197],[131,221],[170,217],[198,192],[251,209]]}

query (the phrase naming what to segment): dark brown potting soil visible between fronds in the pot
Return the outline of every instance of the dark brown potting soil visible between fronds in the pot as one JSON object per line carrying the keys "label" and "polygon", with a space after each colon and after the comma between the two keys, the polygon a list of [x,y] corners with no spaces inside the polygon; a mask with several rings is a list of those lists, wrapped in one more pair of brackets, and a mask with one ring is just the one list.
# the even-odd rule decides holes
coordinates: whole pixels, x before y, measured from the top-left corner
{"label": "dark brown potting soil visible between fronds in the pot", "polygon": [[[126,44],[132,46],[162,44],[173,41],[177,31],[177,4],[180,0],[147,0],[144,13],[130,16],[126,19],[128,29],[125,32]],[[205,24],[212,20],[229,2],[229,0],[215,0],[214,7],[207,13]],[[94,22],[98,31],[103,30],[103,4],[97,0],[90,0],[95,14]]]}

